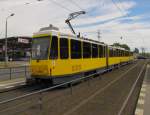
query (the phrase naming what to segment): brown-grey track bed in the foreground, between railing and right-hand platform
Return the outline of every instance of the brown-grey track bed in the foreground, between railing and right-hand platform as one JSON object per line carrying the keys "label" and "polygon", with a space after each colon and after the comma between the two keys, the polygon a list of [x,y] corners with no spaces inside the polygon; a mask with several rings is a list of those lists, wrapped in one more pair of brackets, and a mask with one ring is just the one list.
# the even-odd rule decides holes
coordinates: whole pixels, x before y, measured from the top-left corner
{"label": "brown-grey track bed in the foreground, between railing and right-hand platform", "polygon": [[[96,77],[92,81],[84,82],[73,87],[72,94],[70,93],[70,88],[59,88],[53,91],[47,91],[42,93],[42,98],[39,94],[35,94],[29,96],[26,99],[21,99],[17,101],[13,101],[12,103],[7,103],[5,105],[0,105],[0,114],[11,114],[14,113],[15,115],[26,115],[26,114],[36,114],[36,115],[90,115],[90,101],[93,99],[91,97],[95,97],[99,95],[100,101],[98,106],[98,110],[101,110],[100,113],[103,115],[115,115],[114,113],[120,107],[120,105],[115,105],[114,98],[118,96],[118,93],[115,91],[113,93],[112,89],[117,88],[120,90],[123,87],[124,80],[128,81],[129,76],[138,73],[141,69],[141,65],[144,62],[138,62],[137,64],[130,64],[120,68],[119,70],[114,70],[108,74],[101,75],[101,77]],[[132,70],[132,71],[131,71]],[[137,75],[137,74],[136,74]],[[130,85],[127,85],[127,89],[124,92],[121,92],[122,98],[119,98],[119,103],[123,103],[122,100],[125,99],[124,95],[127,95],[132,82],[135,80],[136,75],[132,77],[131,81],[129,82]],[[124,76],[124,77],[123,77]],[[124,80],[122,80],[124,79]],[[121,81],[120,81],[121,80]],[[114,83],[112,82],[114,81]],[[118,82],[119,81],[119,82]],[[128,82],[125,82],[126,84]],[[119,87],[117,87],[119,84]],[[107,89],[107,90],[106,90]],[[110,90],[110,91],[109,91]],[[106,92],[105,92],[106,91]],[[97,92],[97,93],[96,93]],[[104,93],[105,92],[105,93]],[[96,93],[96,94],[95,94]],[[95,94],[95,95],[94,95]],[[41,95],[41,94],[40,94]],[[105,98],[106,97],[106,98]],[[109,98],[111,97],[111,98]],[[41,99],[40,99],[41,98]],[[90,98],[90,99],[89,99]],[[116,99],[116,100],[117,100]],[[104,101],[105,100],[105,101]],[[114,102],[113,104],[111,102]],[[92,102],[94,103],[94,102]],[[96,103],[96,102],[95,102]],[[12,106],[15,105],[15,106]],[[87,108],[89,106],[89,108]],[[114,107],[112,109],[111,107]],[[19,110],[17,108],[20,108]],[[86,108],[86,109],[85,109]],[[94,108],[94,107],[93,107]],[[98,111],[95,110],[95,111]],[[92,110],[91,110],[92,111]],[[88,112],[88,113],[87,113]],[[100,114],[98,112],[98,114]],[[95,113],[96,114],[96,113]]]}

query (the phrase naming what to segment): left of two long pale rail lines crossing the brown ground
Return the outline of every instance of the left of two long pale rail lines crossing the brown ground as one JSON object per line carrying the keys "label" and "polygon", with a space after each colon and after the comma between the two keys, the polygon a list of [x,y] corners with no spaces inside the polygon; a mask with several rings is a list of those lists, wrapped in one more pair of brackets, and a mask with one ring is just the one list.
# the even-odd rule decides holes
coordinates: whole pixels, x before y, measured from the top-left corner
{"label": "left of two long pale rail lines crossing the brown ground", "polygon": [[65,112],[63,115],[70,115],[71,113],[73,113],[74,111],[76,111],[77,109],[79,109],[81,106],[85,105],[88,101],[92,100],[96,95],[98,95],[99,93],[103,92],[104,90],[106,90],[109,86],[111,86],[113,83],[117,82],[118,80],[120,80],[124,75],[126,75],[129,71],[131,71],[132,69],[134,69],[139,63],[137,63],[136,65],[132,66],[131,68],[129,68],[125,73],[121,74],[117,79],[113,80],[112,82],[110,82],[108,85],[106,85],[105,87],[103,87],[102,89],[98,90],[97,92],[95,92],[93,95],[89,96],[88,98],[84,99],[83,101],[81,101],[78,105],[76,105],[75,107],[73,107],[72,109],[70,109],[69,111]]}

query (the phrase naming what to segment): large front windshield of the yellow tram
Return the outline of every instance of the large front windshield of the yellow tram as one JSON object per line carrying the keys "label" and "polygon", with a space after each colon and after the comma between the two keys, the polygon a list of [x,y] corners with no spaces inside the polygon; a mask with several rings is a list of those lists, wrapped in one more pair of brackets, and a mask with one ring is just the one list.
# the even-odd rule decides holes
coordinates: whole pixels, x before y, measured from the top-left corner
{"label": "large front windshield of the yellow tram", "polygon": [[48,59],[50,37],[33,38],[32,42],[32,59]]}

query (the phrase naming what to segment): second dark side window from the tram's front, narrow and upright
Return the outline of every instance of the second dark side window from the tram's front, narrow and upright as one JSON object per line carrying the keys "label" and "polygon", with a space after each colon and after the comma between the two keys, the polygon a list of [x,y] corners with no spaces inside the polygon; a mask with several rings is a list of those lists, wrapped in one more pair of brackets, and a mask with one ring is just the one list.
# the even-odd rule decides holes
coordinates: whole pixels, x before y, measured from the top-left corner
{"label": "second dark side window from the tram's front, narrow and upright", "polygon": [[60,38],[60,58],[67,59],[69,57],[68,39]]}

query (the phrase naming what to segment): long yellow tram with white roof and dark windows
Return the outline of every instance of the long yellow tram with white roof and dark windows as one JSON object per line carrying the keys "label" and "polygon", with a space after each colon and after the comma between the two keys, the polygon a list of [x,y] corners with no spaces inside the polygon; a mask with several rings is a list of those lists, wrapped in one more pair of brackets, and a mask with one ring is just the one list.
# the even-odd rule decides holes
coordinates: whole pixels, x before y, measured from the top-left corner
{"label": "long yellow tram with white roof and dark windows", "polygon": [[33,35],[31,77],[60,84],[131,60],[130,51],[45,28]]}

